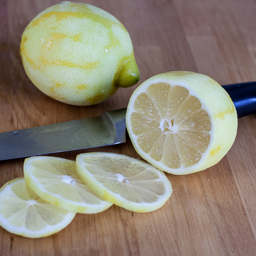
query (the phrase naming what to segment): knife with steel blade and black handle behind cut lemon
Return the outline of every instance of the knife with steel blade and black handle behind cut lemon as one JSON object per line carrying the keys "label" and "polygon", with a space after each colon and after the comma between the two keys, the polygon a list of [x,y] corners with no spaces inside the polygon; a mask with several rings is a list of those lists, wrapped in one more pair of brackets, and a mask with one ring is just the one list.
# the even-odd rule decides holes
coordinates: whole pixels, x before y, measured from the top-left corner
{"label": "knife with steel blade and black handle behind cut lemon", "polygon": [[[256,82],[222,86],[238,117],[256,113]],[[101,116],[0,133],[0,161],[115,145],[126,141],[126,108]]]}

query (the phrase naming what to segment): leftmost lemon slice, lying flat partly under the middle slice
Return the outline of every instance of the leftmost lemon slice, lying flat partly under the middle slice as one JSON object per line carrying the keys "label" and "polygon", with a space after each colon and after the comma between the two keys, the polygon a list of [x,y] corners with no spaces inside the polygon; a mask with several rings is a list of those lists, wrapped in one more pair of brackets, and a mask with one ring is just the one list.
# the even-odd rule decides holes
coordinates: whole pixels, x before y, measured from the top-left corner
{"label": "leftmost lemon slice, lying flat partly under the middle slice", "polygon": [[67,227],[76,213],[41,199],[25,179],[11,180],[0,189],[0,225],[11,233],[37,238]]}

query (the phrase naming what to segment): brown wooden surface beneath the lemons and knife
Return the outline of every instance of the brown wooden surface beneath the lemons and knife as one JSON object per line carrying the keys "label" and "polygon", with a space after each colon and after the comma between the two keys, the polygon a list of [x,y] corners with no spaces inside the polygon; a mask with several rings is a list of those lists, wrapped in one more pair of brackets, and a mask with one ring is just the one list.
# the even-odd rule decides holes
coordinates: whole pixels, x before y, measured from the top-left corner
{"label": "brown wooden surface beneath the lemons and knife", "polygon": [[[23,29],[39,12],[57,3],[0,0],[0,132],[126,107],[135,87],[166,71],[195,71],[222,85],[256,79],[253,0],[88,0],[127,28],[141,79],[99,105],[65,105],[36,89],[19,57]],[[256,115],[240,118],[236,141],[220,163],[195,174],[167,174],[174,191],[161,209],[134,213],[111,206],[98,214],[77,214],[58,234],[39,239],[13,235],[0,227],[0,254],[256,255],[255,145]],[[118,146],[53,156],[75,159],[90,151],[139,157],[129,138]],[[23,175],[23,161],[0,162],[1,187]]]}

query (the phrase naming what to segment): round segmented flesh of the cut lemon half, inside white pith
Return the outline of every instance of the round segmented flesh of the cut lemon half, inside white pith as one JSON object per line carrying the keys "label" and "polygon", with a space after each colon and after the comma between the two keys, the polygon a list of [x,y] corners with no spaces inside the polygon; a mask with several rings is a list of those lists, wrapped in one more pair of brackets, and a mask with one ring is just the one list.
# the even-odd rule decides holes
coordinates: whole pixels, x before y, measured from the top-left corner
{"label": "round segmented flesh of the cut lemon half, inside white pith", "polygon": [[156,83],[138,95],[131,115],[141,150],[178,169],[198,163],[210,143],[211,119],[183,86]]}

